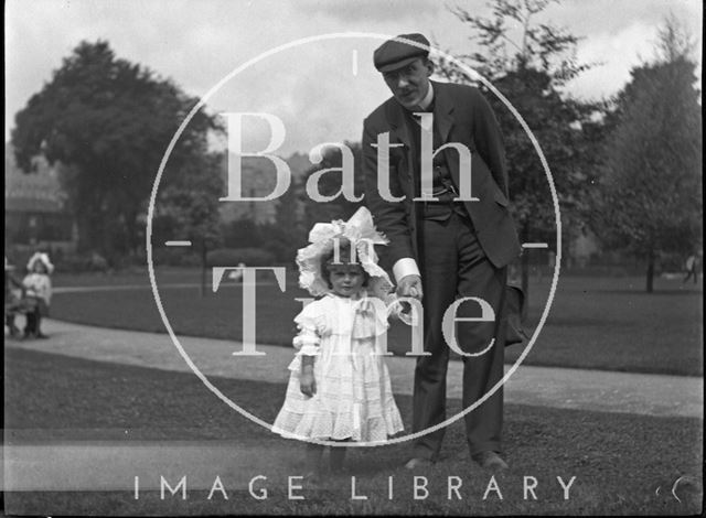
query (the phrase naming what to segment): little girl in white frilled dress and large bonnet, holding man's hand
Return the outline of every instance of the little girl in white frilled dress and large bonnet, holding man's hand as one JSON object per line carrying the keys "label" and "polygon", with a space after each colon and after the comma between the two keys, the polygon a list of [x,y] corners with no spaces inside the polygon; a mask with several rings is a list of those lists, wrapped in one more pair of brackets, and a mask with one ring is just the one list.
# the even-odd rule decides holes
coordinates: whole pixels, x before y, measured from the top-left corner
{"label": "little girl in white frilled dress and large bonnet, holding man's hand", "polygon": [[[297,439],[385,441],[404,429],[381,355],[387,311],[368,299],[391,296],[373,248],[387,240],[362,207],[346,223],[317,224],[309,241],[297,253],[299,284],[322,298],[295,317],[299,352],[272,430]],[[322,445],[307,445],[307,478],[318,477],[322,454]],[[341,471],[344,455],[345,447],[331,447],[331,471]]]}

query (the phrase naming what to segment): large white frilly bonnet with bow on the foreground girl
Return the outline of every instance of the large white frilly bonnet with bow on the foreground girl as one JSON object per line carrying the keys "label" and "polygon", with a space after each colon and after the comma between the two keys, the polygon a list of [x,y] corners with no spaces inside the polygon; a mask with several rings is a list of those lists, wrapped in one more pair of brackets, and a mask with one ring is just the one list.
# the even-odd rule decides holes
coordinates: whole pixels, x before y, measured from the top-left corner
{"label": "large white frilly bonnet with bow on the foreground girl", "polygon": [[370,276],[368,292],[382,299],[392,290],[393,283],[377,265],[374,245],[387,245],[388,240],[375,229],[373,216],[365,207],[359,208],[347,222],[335,219],[313,226],[309,233],[310,245],[297,251],[299,285],[313,296],[330,293],[331,288],[321,271],[321,259],[333,251],[336,242],[342,248],[346,240],[355,250],[355,261]]}

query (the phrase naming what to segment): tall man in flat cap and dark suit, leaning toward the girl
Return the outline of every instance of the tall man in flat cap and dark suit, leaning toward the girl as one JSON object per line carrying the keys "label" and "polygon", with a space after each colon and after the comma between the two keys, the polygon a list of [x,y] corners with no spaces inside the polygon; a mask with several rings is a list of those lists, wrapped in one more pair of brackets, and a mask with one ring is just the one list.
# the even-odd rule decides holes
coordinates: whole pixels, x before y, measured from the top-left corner
{"label": "tall man in flat cap and dark suit, leaning toward the girl", "polygon": [[[385,259],[398,294],[415,296],[424,306],[425,352],[430,355],[417,359],[414,432],[446,420],[449,346],[442,321],[458,298],[480,298],[495,316],[493,322],[458,324],[458,345],[473,355],[463,356],[463,408],[502,379],[505,267],[521,251],[507,211],[504,150],[493,111],[475,88],[431,82],[434,64],[428,55],[429,42],[421,34],[397,36],[375,51],[375,67],[393,97],[365,119],[363,130],[365,196],[377,228],[391,240]],[[377,157],[385,152],[386,137],[388,184],[384,179],[381,183],[378,176],[385,171],[378,174]],[[421,150],[429,151],[430,144],[427,157],[432,158],[422,160]],[[470,161],[464,160],[469,155]],[[435,201],[428,201],[429,195]],[[467,301],[457,316],[479,320],[480,307],[479,302]],[[471,457],[489,470],[507,467],[500,455],[502,407],[500,387],[466,416]],[[440,429],[415,440],[406,467],[434,463],[442,438]]]}

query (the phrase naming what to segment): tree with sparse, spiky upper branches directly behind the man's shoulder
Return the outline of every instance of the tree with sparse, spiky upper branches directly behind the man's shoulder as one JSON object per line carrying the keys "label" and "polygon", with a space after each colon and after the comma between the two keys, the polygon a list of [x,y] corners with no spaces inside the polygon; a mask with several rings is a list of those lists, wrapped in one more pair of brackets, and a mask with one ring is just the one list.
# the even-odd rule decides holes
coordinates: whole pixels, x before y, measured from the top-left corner
{"label": "tree with sparse, spiky upper branches directly behind the man's shoulder", "polygon": [[[454,9],[457,17],[470,25],[471,40],[480,47],[458,58],[488,78],[526,121],[553,172],[564,228],[577,231],[588,208],[587,192],[595,174],[591,148],[600,132],[596,131],[593,116],[601,111],[601,106],[573,99],[563,89],[591,65],[576,61],[577,36],[536,21],[552,1],[494,0],[490,6],[492,19]],[[471,83],[450,60],[442,57],[438,65],[447,78]],[[483,85],[479,87],[485,90],[503,132],[513,215],[521,241],[550,241],[556,231],[555,214],[542,162],[513,114],[492,91]],[[526,294],[527,253],[522,255],[522,284]]]}

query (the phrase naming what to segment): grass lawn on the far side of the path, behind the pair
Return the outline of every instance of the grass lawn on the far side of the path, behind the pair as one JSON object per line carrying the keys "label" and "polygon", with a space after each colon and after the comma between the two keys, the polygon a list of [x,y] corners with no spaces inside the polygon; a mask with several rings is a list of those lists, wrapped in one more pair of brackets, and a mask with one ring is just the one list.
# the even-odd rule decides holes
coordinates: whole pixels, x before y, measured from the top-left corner
{"label": "grass lawn on the far side of the path, behind the pair", "polygon": [[[174,331],[181,335],[242,339],[243,290],[224,283],[205,298],[199,288],[170,284],[197,283],[196,270],[160,270],[160,296]],[[292,319],[308,296],[296,285],[296,273],[287,272],[282,293],[272,274],[264,274],[257,288],[257,339],[264,344],[289,345],[295,333]],[[57,276],[56,287],[142,284],[143,289],[56,293],[52,316],[69,322],[106,327],[165,332],[147,274]],[[549,279],[531,285],[527,328],[539,321],[547,300]],[[609,370],[703,375],[703,292],[700,284],[683,288],[681,281],[657,279],[656,292],[644,293],[643,279],[559,279],[549,317],[526,358],[531,365]],[[391,349],[409,349],[409,331],[395,324]],[[507,349],[514,361],[521,346]]]}

